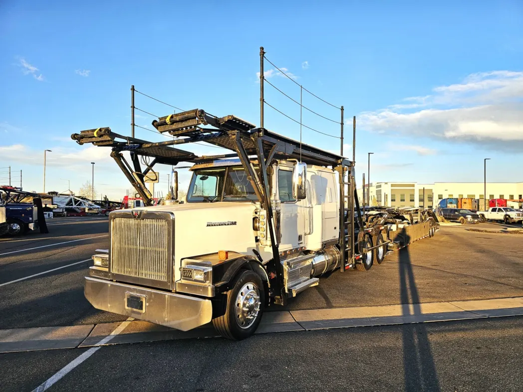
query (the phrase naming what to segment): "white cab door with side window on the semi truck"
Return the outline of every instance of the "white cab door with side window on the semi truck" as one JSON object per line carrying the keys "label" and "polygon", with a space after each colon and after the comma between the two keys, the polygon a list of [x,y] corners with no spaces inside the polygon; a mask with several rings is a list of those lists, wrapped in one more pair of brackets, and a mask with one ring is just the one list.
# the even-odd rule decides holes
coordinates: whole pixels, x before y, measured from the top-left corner
{"label": "white cab door with side window on the semi truck", "polygon": [[277,198],[280,200],[280,250],[297,248],[303,244],[305,234],[304,200],[292,195],[292,167],[278,166]]}

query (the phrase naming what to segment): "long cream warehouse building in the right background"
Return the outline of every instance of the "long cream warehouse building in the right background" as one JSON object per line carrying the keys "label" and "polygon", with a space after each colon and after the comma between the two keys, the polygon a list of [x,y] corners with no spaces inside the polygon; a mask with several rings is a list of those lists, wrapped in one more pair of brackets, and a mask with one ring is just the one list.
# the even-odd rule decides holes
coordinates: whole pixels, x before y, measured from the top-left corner
{"label": "long cream warehouse building in the right background", "polygon": [[[386,207],[434,207],[439,200],[446,198],[485,198],[483,182],[371,182],[366,192],[367,189],[370,191],[370,205]],[[362,200],[361,188],[358,189],[358,198]],[[523,182],[487,182],[486,199],[521,200]]]}

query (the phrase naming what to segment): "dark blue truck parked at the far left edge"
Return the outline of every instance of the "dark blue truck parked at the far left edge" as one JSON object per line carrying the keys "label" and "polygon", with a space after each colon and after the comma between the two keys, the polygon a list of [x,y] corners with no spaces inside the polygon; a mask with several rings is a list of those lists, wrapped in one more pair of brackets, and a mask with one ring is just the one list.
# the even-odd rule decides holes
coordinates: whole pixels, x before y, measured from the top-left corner
{"label": "dark blue truck parked at the far left edge", "polygon": [[28,230],[39,228],[38,207],[32,202],[32,198],[40,197],[40,195],[24,192],[14,187],[2,187],[0,194],[5,206],[7,233],[9,235],[22,235]]}

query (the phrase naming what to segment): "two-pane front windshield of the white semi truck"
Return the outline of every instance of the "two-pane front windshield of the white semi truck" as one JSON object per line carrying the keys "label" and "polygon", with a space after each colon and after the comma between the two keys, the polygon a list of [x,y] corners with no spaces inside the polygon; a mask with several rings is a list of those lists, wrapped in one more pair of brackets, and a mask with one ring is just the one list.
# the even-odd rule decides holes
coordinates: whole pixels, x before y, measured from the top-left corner
{"label": "two-pane front windshield of the white semi truck", "polygon": [[241,166],[195,170],[187,192],[189,203],[257,200],[251,181]]}

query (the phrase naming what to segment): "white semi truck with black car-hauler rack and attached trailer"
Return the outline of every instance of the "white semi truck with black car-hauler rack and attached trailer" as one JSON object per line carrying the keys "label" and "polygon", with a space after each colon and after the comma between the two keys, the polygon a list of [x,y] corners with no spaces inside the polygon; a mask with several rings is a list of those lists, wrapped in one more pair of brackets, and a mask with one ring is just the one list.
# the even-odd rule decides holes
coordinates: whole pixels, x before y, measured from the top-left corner
{"label": "white semi truck with black car-hauler rack and attached trailer", "polygon": [[[287,303],[331,271],[367,271],[439,228],[424,209],[362,216],[354,162],[237,117],[195,109],[153,125],[177,139],[150,143],[110,128],[72,135],[111,147],[146,205],[109,215],[109,253],[93,256],[85,278],[85,296],[98,309],[183,331],[212,321],[224,337],[243,339],[265,307]],[[176,148],[192,142],[233,153]],[[151,206],[147,172],[181,162],[194,165],[186,202]],[[176,172],[172,179],[176,199]]]}

